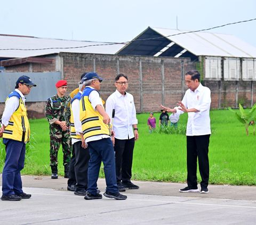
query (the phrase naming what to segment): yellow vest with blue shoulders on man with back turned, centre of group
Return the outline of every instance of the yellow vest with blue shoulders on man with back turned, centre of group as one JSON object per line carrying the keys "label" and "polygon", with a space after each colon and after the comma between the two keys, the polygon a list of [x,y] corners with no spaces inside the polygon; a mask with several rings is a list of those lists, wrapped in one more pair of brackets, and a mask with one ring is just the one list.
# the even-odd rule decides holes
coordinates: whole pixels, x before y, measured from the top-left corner
{"label": "yellow vest with blue shoulders on man with back turned, centre of group", "polygon": [[[88,87],[85,88],[80,100],[80,120],[82,122],[84,139],[95,135],[110,136],[109,126],[103,123],[103,116],[93,109],[92,104],[89,101],[91,91],[97,90]],[[102,98],[101,101],[103,104],[105,103]]]}

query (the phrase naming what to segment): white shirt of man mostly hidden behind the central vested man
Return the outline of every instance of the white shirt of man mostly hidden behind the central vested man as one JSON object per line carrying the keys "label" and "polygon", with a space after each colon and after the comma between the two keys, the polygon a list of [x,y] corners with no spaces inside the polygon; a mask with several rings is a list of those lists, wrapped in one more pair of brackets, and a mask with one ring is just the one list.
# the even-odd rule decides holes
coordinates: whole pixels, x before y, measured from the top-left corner
{"label": "white shirt of man mostly hidden behind the central vested man", "polygon": [[[82,91],[79,90],[79,93],[82,94]],[[72,110],[72,113],[73,113],[73,119],[74,119],[76,134],[80,135],[80,133],[83,133],[83,130],[82,130],[82,123],[79,120],[79,113],[80,113],[80,101],[79,101],[79,99],[77,99],[77,98],[74,99],[74,101],[71,104],[71,110]],[[77,141],[82,141],[82,140],[72,138],[72,145],[74,143],[76,143]]]}

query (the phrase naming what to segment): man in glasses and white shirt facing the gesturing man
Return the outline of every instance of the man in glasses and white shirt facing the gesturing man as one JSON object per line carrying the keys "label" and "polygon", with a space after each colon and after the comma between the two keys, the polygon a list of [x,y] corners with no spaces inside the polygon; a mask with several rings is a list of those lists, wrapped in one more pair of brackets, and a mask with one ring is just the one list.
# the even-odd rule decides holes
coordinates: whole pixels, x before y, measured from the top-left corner
{"label": "man in glasses and white shirt facing the gesturing man", "polygon": [[[133,96],[126,92],[128,78],[119,73],[115,78],[116,91],[106,102],[106,112],[111,118],[115,110],[113,130],[115,131],[116,180],[119,191],[139,189],[131,182],[134,140],[138,140],[138,120]],[[133,130],[134,129],[134,134]]]}

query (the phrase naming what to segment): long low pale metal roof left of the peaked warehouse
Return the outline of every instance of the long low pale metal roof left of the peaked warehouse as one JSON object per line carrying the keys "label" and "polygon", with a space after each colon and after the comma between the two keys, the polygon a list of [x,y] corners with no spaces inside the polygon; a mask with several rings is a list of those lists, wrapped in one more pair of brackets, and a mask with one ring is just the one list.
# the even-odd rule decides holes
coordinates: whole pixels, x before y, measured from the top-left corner
{"label": "long low pale metal roof left of the peaked warehouse", "polygon": [[113,43],[100,43],[93,41],[75,41],[75,40],[60,40],[47,39],[36,37],[20,37],[20,36],[5,36],[0,35],[0,49],[18,48],[18,49],[37,49],[37,48],[53,48],[44,50],[0,50],[0,57],[6,58],[22,58],[29,56],[47,55],[59,52],[71,53],[94,53],[94,54],[115,54],[119,49],[124,47],[124,44],[90,46],[83,48],[68,48],[57,49],[56,47],[80,47],[87,45],[101,45]]}

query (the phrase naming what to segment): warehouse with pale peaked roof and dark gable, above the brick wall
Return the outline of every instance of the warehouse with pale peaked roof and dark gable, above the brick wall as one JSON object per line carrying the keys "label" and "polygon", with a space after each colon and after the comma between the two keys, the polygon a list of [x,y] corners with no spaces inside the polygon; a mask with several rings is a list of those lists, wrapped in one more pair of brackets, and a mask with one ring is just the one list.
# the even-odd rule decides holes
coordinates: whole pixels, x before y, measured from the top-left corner
{"label": "warehouse with pale peaked roof and dark gable, above the brick wall", "polygon": [[256,48],[233,35],[148,27],[116,54],[189,57],[212,91],[213,107],[256,101]]}

